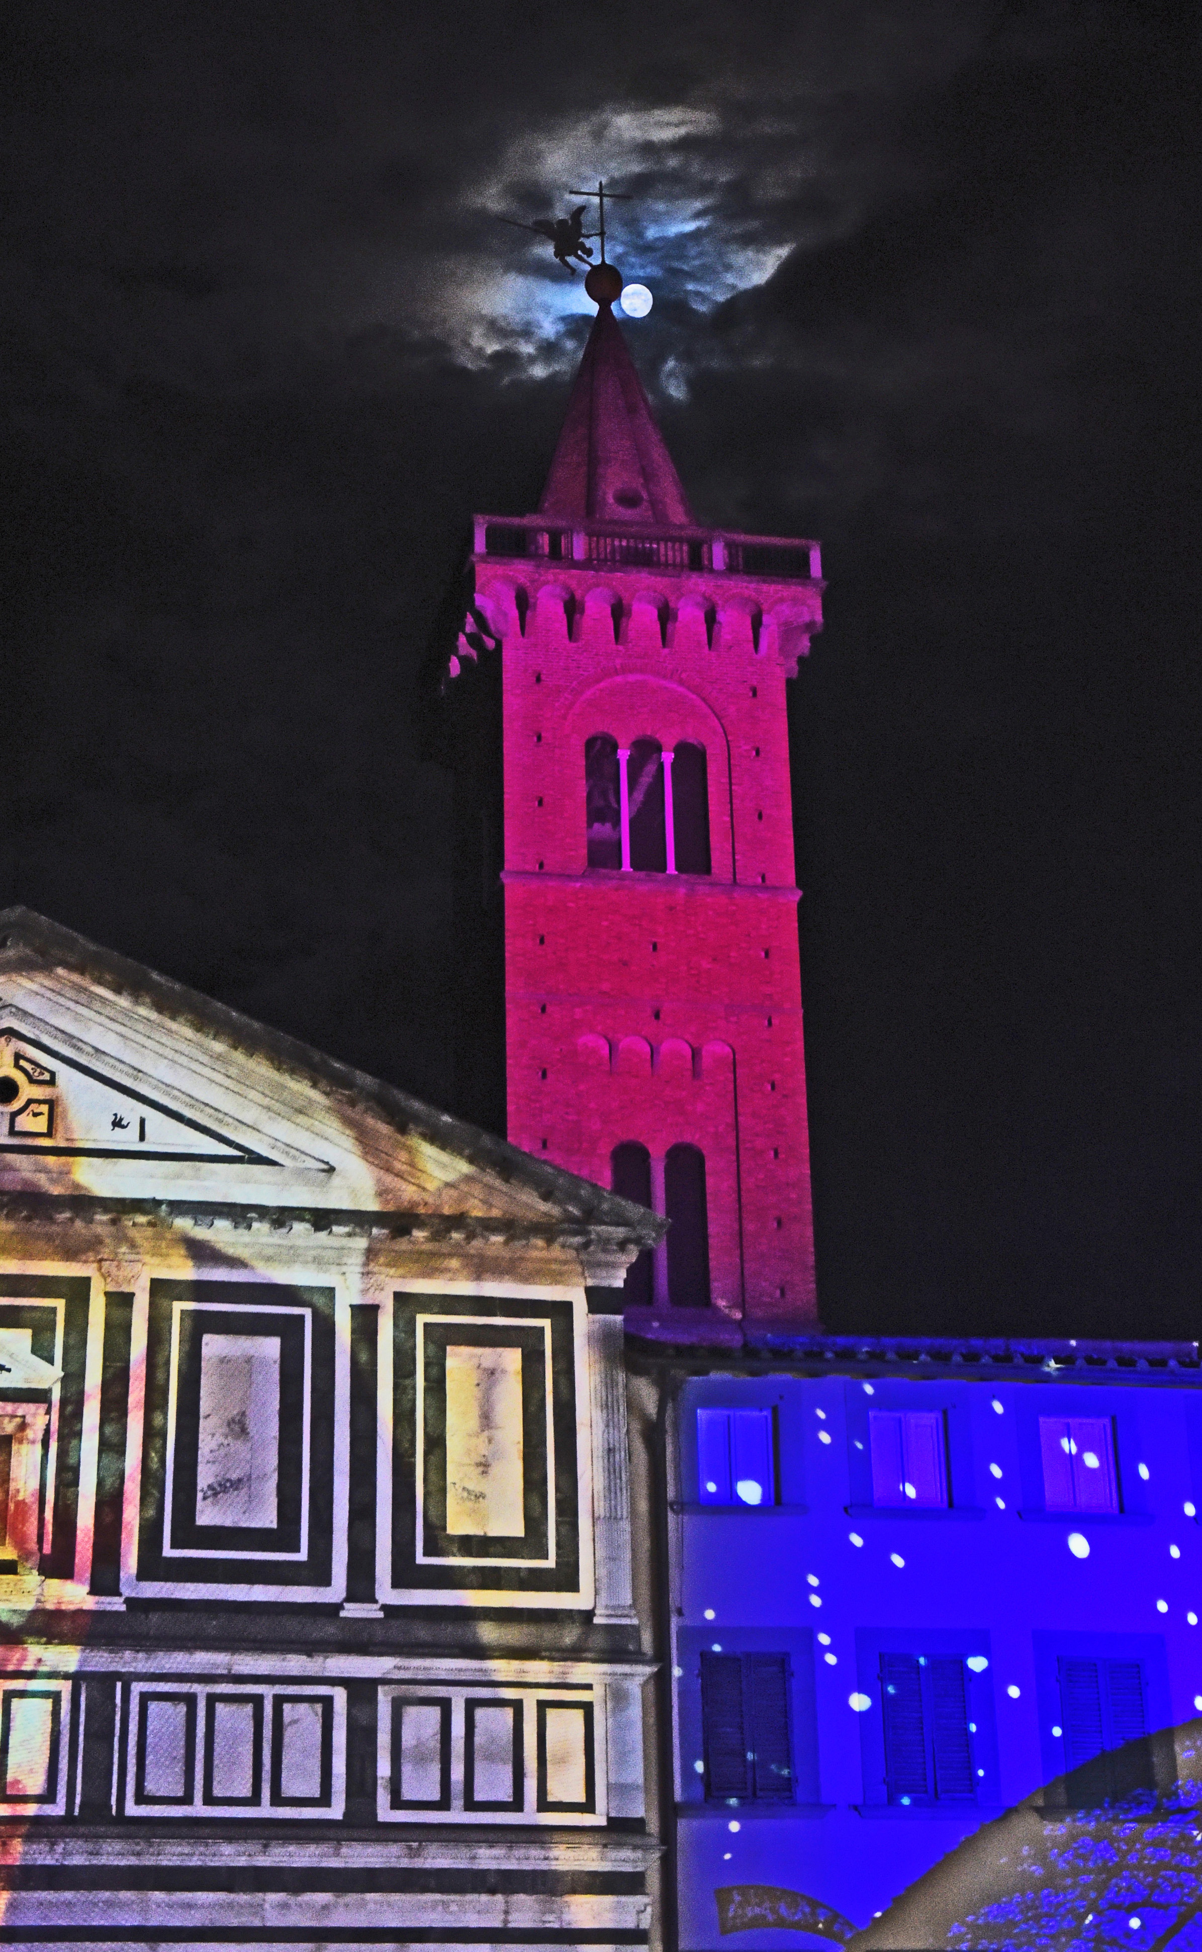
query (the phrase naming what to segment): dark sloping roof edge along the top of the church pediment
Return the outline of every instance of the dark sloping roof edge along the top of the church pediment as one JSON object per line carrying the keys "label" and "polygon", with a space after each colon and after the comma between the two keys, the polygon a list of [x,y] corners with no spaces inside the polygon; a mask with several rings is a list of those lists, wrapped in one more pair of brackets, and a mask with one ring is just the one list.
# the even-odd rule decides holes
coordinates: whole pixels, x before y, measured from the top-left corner
{"label": "dark sloping roof edge along the top of the church pediment", "polygon": [[[47,968],[90,976],[105,990],[148,1003],[160,1015],[207,1031],[232,1050],[265,1058],[306,1083],[347,1093],[359,1107],[377,1113],[394,1132],[416,1134],[498,1179],[529,1187],[548,1206],[560,1208],[562,1224],[576,1222],[587,1228],[617,1230],[626,1240],[638,1240],[646,1247],[656,1245],[665,1234],[667,1224],[656,1214],[632,1200],[619,1199],[617,1193],[607,1193],[605,1187],[597,1187],[589,1179],[580,1179],[558,1165],[544,1165],[507,1140],[455,1118],[451,1113],[437,1111],[433,1105],[410,1097],[408,1091],[400,1091],[381,1078],[371,1078],[367,1072],[355,1070],[353,1064],[343,1064],[285,1031],[258,1023],[254,1017],[230,1009],[228,1003],[217,1003],[203,992],[176,982],[174,976],[162,976],[144,962],[135,962],[113,949],[101,949],[31,908],[4,908],[0,910],[0,976],[18,962],[21,951]],[[23,1200],[27,1204],[29,1195],[23,1195]],[[57,1199],[53,1204],[60,1206],[62,1200]],[[166,1206],[170,1202],[150,1204]],[[431,1222],[433,1216],[425,1214],[421,1220]],[[505,1224],[496,1222],[498,1228]]]}

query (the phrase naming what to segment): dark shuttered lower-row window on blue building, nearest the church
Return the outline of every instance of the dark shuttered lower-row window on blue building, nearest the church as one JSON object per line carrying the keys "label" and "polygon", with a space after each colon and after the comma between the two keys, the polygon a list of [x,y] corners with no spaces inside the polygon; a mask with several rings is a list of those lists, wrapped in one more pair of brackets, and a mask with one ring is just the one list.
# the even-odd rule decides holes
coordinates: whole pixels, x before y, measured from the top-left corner
{"label": "dark shuttered lower-row window on blue building, nearest the church", "polygon": [[792,1802],[786,1653],[702,1653],[704,1792]]}

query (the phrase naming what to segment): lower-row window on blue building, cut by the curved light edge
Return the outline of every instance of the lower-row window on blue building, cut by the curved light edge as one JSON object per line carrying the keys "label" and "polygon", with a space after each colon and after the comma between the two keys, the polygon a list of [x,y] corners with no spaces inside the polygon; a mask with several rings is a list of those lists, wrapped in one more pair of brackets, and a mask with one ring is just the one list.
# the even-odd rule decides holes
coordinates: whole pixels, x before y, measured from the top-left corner
{"label": "lower-row window on blue building, cut by the curved light edge", "polygon": [[1155,1788],[1142,1661],[1058,1661],[1069,1804],[1101,1804]]}

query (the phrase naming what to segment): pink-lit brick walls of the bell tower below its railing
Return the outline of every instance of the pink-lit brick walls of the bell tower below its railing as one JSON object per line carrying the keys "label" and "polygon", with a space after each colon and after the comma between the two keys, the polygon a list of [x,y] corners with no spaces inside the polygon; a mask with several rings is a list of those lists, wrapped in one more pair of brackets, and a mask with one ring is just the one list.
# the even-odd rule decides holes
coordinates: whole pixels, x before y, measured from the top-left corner
{"label": "pink-lit brick walls of the bell tower below its railing", "polygon": [[[712,1300],[816,1320],[786,677],[816,584],[476,556],[501,638],[509,1138],[706,1159]],[[587,867],[583,750],[706,752],[710,874]]]}

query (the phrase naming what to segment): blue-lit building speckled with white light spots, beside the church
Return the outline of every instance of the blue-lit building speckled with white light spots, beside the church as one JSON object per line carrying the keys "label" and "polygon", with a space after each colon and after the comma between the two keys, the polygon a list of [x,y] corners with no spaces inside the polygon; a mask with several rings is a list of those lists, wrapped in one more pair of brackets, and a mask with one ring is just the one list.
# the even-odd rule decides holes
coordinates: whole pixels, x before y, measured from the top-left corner
{"label": "blue-lit building speckled with white light spots, beside the church", "polygon": [[[1022,1891],[999,1872],[1015,1831],[942,1860],[1015,1806],[1032,1903],[1099,1813],[1194,1808],[1198,1345],[630,1347],[661,1402],[685,1952],[954,1944],[950,1921]],[[919,1880],[935,1936],[905,1936]],[[1118,1942],[1171,1921],[1153,1886]],[[1077,1895],[1075,1927],[1095,1917]],[[993,1942],[1040,1942],[1024,1931]]]}

